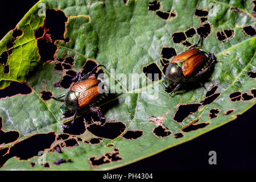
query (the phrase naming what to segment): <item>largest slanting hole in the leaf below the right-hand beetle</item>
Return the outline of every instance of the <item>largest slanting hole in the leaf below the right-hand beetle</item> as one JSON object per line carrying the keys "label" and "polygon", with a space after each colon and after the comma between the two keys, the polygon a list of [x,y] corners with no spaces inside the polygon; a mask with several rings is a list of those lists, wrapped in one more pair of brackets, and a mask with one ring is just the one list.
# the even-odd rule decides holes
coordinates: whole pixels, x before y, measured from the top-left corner
{"label": "largest slanting hole in the leaf below the right-hand beetle", "polygon": [[185,118],[188,117],[189,114],[195,113],[200,106],[201,104],[180,105],[174,115],[174,120],[179,123],[182,122]]}

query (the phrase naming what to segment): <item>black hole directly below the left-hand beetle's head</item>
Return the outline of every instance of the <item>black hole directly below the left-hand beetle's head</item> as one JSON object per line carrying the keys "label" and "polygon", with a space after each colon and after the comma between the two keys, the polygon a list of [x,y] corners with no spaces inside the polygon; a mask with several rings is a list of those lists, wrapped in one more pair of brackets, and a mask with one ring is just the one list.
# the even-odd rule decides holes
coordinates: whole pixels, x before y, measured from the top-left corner
{"label": "black hole directly below the left-hand beetle's head", "polygon": [[63,130],[63,133],[70,134],[70,135],[81,135],[85,132],[85,123],[84,118],[76,118],[73,123],[67,122],[65,123],[67,128]]}

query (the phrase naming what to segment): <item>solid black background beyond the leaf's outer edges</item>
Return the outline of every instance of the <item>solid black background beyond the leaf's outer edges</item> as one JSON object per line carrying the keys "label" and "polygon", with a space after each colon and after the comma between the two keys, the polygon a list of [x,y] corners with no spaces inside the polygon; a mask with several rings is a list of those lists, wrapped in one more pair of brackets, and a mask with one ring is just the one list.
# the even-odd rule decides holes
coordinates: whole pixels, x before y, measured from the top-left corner
{"label": "solid black background beyond the leaf's outer edges", "polygon": [[[36,0],[3,1],[0,6],[0,39],[14,29]],[[179,146],[120,170],[255,170],[256,106],[228,124]],[[136,150],[136,148],[134,148]],[[217,165],[208,164],[208,152],[217,152]]]}

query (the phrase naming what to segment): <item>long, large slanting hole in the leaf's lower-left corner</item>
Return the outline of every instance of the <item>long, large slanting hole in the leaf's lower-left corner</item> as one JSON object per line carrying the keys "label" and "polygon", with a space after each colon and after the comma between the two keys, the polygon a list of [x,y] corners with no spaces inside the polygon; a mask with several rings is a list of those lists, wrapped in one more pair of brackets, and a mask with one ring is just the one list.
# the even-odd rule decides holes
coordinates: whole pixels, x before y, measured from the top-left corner
{"label": "long, large slanting hole in the leaf's lower-left corner", "polygon": [[30,138],[24,139],[10,148],[9,154],[3,156],[0,166],[3,166],[8,159],[14,156],[18,157],[20,160],[27,160],[37,156],[39,151],[50,148],[54,141],[55,133],[53,132],[48,134],[36,134]]}

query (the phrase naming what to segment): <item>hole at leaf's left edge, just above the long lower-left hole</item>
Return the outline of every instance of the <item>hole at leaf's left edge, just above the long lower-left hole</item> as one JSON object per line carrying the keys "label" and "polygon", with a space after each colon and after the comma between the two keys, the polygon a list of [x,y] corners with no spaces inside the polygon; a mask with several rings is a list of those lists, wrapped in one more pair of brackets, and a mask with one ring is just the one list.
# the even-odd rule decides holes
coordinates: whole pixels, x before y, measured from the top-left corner
{"label": "hole at leaf's left edge, just above the long lower-left hole", "polygon": [[3,131],[2,130],[2,118],[0,117],[0,144],[7,144],[14,142],[19,138],[19,133],[17,131]]}

